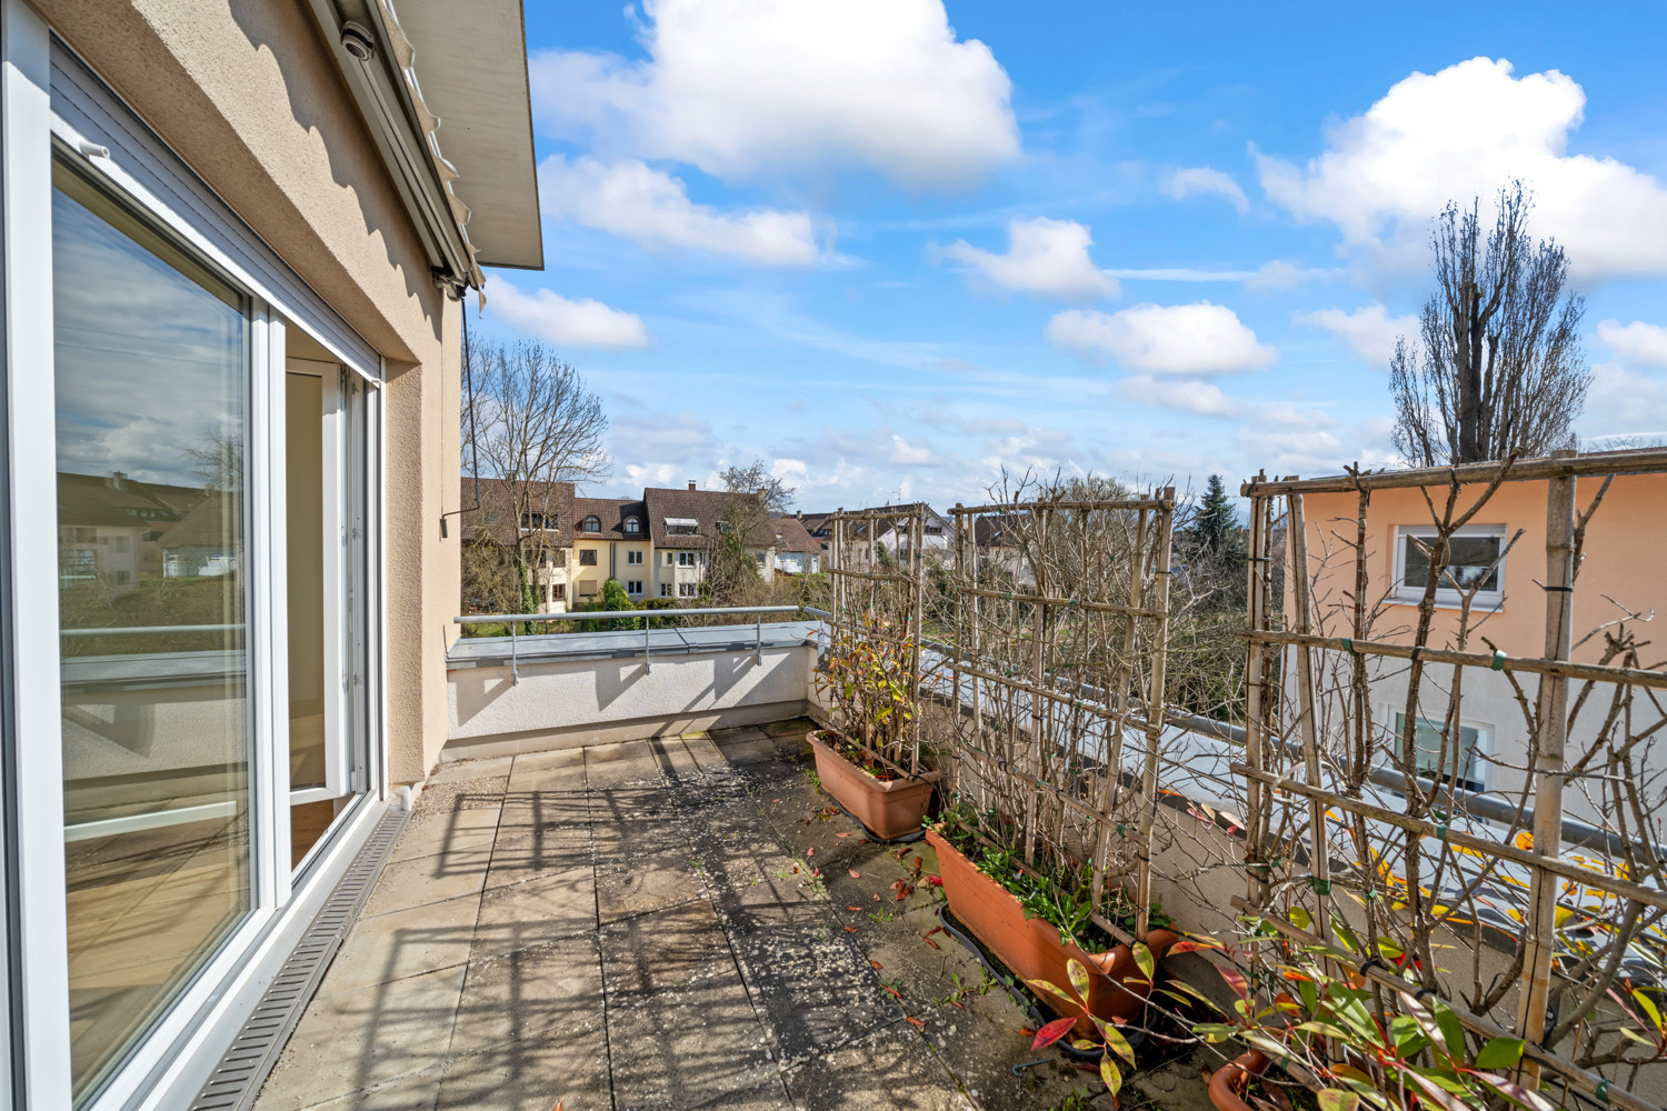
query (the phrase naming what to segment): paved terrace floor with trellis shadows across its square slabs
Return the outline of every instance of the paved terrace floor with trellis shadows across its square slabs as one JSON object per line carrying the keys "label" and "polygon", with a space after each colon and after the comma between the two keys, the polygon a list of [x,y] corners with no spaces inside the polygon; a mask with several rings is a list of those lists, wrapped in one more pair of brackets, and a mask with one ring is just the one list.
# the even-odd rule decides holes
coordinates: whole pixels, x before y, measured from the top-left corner
{"label": "paved terrace floor with trellis shadows across its square slabs", "polygon": [[[935,873],[932,851],[867,843],[834,811],[807,728],[443,766],[257,1111],[970,1111],[1104,1093],[1030,1051],[1029,1019],[979,989],[965,949],[924,936],[932,888],[899,901],[892,883],[915,856]],[[1179,1069],[1125,1089],[1125,1109],[1147,1101],[1209,1106]]]}

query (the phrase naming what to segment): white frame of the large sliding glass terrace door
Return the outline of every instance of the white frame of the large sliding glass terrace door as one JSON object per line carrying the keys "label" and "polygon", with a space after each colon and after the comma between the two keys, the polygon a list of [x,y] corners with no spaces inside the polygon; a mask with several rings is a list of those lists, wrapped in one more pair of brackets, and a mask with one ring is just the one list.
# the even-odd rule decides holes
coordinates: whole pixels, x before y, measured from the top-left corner
{"label": "white frame of the large sliding glass terrace door", "polygon": [[[220,1049],[258,999],[265,978],[333,889],[387,801],[383,721],[387,670],[382,475],[383,365],[335,311],[98,80],[23,0],[0,0],[0,361],[5,370],[3,528],[7,536],[57,535],[57,420],[53,383],[52,162],[57,152],[145,218],[230,278],[250,298],[248,488],[248,713],[250,911],[217,943],[138,1038],[128,1056],[83,1101],[83,1111],[160,1111],[207,1078]],[[363,490],[362,545],[353,590],[365,675],[352,686],[352,713],[368,738],[365,793],[338,816],[292,871],[288,843],[288,713],[283,546],[283,351],[288,321],[303,326],[372,388],[363,390],[355,473]],[[0,620],[27,628],[38,651],[3,665],[7,775],[13,810],[0,834],[15,873],[0,916],[10,961],[0,961],[0,1063],[23,1106],[70,1108],[68,951],[63,856],[63,735],[53,545],[0,551]],[[8,640],[8,645],[15,643]],[[27,736],[28,745],[17,745]],[[280,738],[285,743],[280,743]],[[3,798],[3,796],[0,796]],[[3,908],[0,908],[3,909]],[[15,924],[15,933],[10,926]],[[5,983],[15,973],[17,979]],[[20,1046],[18,1058],[12,1048]],[[0,1101],[3,1103],[3,1101]]]}

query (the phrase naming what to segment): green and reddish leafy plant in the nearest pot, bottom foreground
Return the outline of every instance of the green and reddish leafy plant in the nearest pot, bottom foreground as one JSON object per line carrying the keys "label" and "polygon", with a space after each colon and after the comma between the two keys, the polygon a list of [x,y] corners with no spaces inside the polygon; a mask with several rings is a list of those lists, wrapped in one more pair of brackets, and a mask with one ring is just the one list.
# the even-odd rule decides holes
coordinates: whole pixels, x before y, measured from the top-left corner
{"label": "green and reddish leafy plant in the nearest pot, bottom foreground", "polygon": [[[1349,944],[1344,929],[1339,938]],[[1259,1003],[1249,981],[1232,974],[1227,981],[1239,996],[1234,1013],[1192,1028],[1204,1041],[1250,1046],[1210,1078],[1217,1111],[1250,1111],[1245,1088],[1259,1078],[1269,1083],[1270,1061],[1280,1061],[1292,1081],[1315,1089],[1324,1111],[1480,1111],[1504,1104],[1552,1111],[1544,1094],[1505,1076],[1522,1061],[1520,1038],[1477,1039],[1445,1003],[1420,1001],[1419,984],[1410,981],[1387,991],[1399,1014],[1387,1008],[1379,1013],[1360,976],[1337,976],[1320,954],[1257,939],[1284,953],[1284,959],[1262,963],[1265,983],[1279,984],[1272,1003]]]}

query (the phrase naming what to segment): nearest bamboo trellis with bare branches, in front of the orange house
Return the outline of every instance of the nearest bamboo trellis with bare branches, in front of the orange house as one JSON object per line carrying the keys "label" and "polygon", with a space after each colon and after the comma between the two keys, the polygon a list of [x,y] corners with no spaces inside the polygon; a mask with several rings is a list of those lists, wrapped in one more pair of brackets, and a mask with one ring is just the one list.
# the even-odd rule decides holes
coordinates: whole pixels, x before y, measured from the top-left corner
{"label": "nearest bamboo trellis with bare branches, in front of the orange house", "polygon": [[[1334,926],[1347,923],[1364,934],[1367,956],[1385,951],[1380,943],[1405,951],[1412,968],[1400,974],[1369,959],[1345,961],[1379,988],[1380,1009],[1394,1008],[1395,994],[1385,986],[1435,993],[1480,1038],[1507,1031],[1522,1038],[1525,1083],[1562,1084],[1595,1103],[1644,1111],[1655,1104],[1629,1088],[1642,1076],[1659,1103],[1667,1076],[1642,1069],[1667,1069],[1667,1063],[1635,1046],[1629,1054],[1617,1031],[1622,1013],[1602,1004],[1605,989],[1622,983],[1620,969],[1640,959],[1667,966],[1667,854],[1657,846],[1657,806],[1642,783],[1659,778],[1667,763],[1650,755],[1655,738],[1667,740],[1660,695],[1667,663],[1639,655],[1649,641],[1640,643],[1635,626],[1650,615],[1627,610],[1625,600],[1590,598],[1584,613],[1595,610],[1590,603],[1612,603],[1620,616],[1584,640],[1574,628],[1587,526],[1615,478],[1635,475],[1667,478],[1667,451],[1562,451],[1547,460],[1319,480],[1259,475],[1244,485],[1250,500],[1247,718],[1244,763],[1234,771],[1245,785],[1247,868],[1245,896],[1234,904],[1297,943],[1327,943]],[[1474,605],[1487,575],[1464,585],[1440,580],[1459,530],[1487,520],[1477,516],[1484,506],[1509,483],[1525,481],[1545,486],[1545,563],[1534,576],[1544,595],[1544,645],[1539,655],[1507,655],[1490,643],[1485,615]],[[1420,541],[1429,545],[1429,576],[1410,635],[1385,636],[1377,630],[1385,600],[1369,595],[1372,560],[1385,555],[1372,550],[1372,495],[1409,488],[1424,491],[1429,510],[1434,540]],[[1309,520],[1305,498],[1312,495],[1352,495],[1352,520]],[[1655,508],[1667,515],[1667,500]],[[1505,553],[1534,556],[1514,546],[1520,536],[1502,540],[1495,571]],[[1320,550],[1310,551],[1315,538]],[[1284,606],[1275,603],[1280,571]],[[1317,586],[1335,593],[1319,598]],[[1459,613],[1445,615],[1437,630],[1440,588],[1460,601]],[[1574,661],[1577,641],[1599,635],[1600,661]],[[1470,640],[1492,651],[1469,648]],[[1444,775],[1464,778],[1460,706],[1465,680],[1474,686],[1479,673],[1502,675],[1510,686],[1527,746],[1515,768],[1522,781],[1512,788],[1519,820],[1504,844],[1465,833],[1465,793],[1442,786]],[[1374,695],[1399,690],[1402,678],[1400,703],[1387,721],[1375,720]],[[1439,721],[1425,716],[1432,693],[1445,705]],[[1590,731],[1594,713],[1597,733],[1584,751],[1570,748],[1572,726]],[[1437,763],[1420,783],[1424,731],[1439,735]],[[1504,766],[1499,753],[1494,758]],[[1384,798],[1374,805],[1364,790],[1382,765],[1419,785],[1399,810]],[[1580,858],[1587,863],[1562,858],[1565,801],[1580,800],[1620,836],[1619,851],[1597,861]],[[1532,828],[1522,828],[1529,813]],[[1522,834],[1530,834],[1527,844]],[[1507,921],[1512,911],[1520,919],[1514,949],[1507,931],[1489,926],[1482,913],[1492,909],[1495,886],[1515,898],[1509,889],[1520,879],[1502,871],[1507,861],[1529,876],[1522,906],[1504,904]],[[1572,934],[1565,919],[1585,923],[1587,933]],[[1510,958],[1490,981],[1482,979],[1482,949]],[[1464,959],[1475,961],[1469,989],[1460,983]]]}

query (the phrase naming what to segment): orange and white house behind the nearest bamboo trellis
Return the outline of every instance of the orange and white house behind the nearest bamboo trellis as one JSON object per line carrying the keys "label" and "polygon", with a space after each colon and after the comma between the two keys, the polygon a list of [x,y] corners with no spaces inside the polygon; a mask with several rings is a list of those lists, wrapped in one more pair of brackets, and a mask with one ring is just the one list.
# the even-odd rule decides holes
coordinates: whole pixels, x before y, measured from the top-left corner
{"label": "orange and white house behind the nearest bamboo trellis", "polygon": [[[1584,511],[1597,493],[1600,480],[1577,480],[1575,501]],[[1469,506],[1485,483],[1470,483],[1460,491],[1460,506]],[[1410,643],[1417,625],[1417,606],[1429,576],[1429,541],[1434,540],[1430,506],[1425,496],[1442,506],[1445,483],[1429,488],[1372,491],[1367,515],[1367,553],[1370,585],[1365,608],[1372,615],[1369,640]],[[1469,651],[1492,651],[1507,656],[1539,656],[1545,648],[1545,498],[1547,481],[1505,481],[1487,500],[1475,520],[1452,540],[1445,583],[1437,590],[1434,626],[1429,645],[1454,648],[1459,640],[1462,595],[1455,583],[1475,586],[1467,630]],[[1309,575],[1319,605],[1320,630],[1330,636],[1354,636],[1354,538],[1359,495],[1307,493],[1304,520],[1307,526]],[[1615,621],[1627,615],[1642,640],[1654,615],[1667,613],[1667,475],[1620,475],[1604,493],[1592,515],[1582,543],[1582,556],[1574,591],[1574,660],[1599,663],[1605,636],[1594,633],[1602,625],[1615,631]],[[1342,538],[1340,538],[1342,535]],[[1347,541],[1347,543],[1344,543]],[[1285,591],[1287,610],[1294,591]],[[1645,650],[1645,666],[1660,658]],[[1339,666],[1339,653],[1319,653],[1319,666]],[[1379,728],[1404,735],[1409,665],[1395,658],[1369,658],[1374,705],[1370,713]],[[1534,701],[1532,676],[1527,685]],[[1324,686],[1324,685],[1322,685]],[[1522,703],[1502,671],[1465,668],[1457,723],[1459,761],[1435,768],[1450,701],[1452,668],[1429,666],[1419,691],[1419,761],[1430,775],[1454,780],[1472,791],[1512,796],[1529,775],[1529,728]],[[1599,735],[1599,725],[1610,706],[1612,686],[1599,685],[1584,700],[1569,733],[1570,761],[1579,760]],[[1340,708],[1334,706],[1334,713]],[[1335,716],[1332,718],[1335,720]],[[1457,766],[1457,776],[1454,768]],[[1639,770],[1644,775],[1644,770]],[[1565,796],[1565,811],[1582,821],[1600,823],[1602,815],[1579,791]],[[1654,816],[1657,834],[1662,815]]]}

